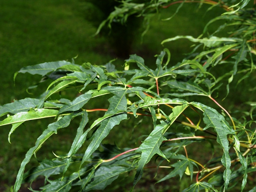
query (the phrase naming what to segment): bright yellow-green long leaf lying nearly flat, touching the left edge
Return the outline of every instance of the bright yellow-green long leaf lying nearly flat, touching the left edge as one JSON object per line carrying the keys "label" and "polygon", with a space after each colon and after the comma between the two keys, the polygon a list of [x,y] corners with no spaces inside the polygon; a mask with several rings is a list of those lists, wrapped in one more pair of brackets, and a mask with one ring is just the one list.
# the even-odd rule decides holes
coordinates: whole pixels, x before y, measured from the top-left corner
{"label": "bright yellow-green long leaf lying nearly flat, touching the left edge", "polygon": [[13,116],[8,116],[6,119],[0,122],[0,126],[41,118],[55,117],[57,114],[58,110],[53,109],[31,109],[28,112],[19,112]]}

